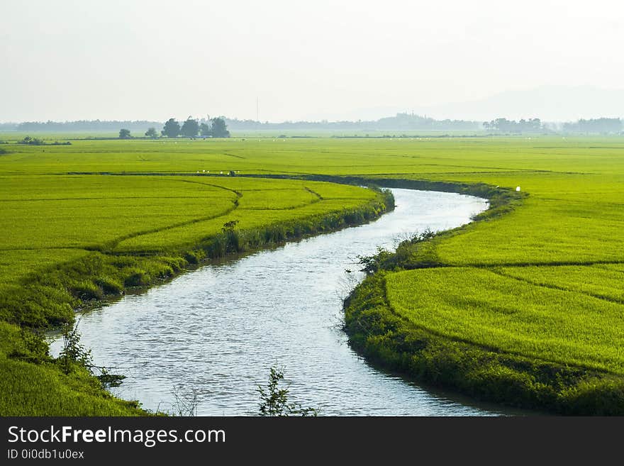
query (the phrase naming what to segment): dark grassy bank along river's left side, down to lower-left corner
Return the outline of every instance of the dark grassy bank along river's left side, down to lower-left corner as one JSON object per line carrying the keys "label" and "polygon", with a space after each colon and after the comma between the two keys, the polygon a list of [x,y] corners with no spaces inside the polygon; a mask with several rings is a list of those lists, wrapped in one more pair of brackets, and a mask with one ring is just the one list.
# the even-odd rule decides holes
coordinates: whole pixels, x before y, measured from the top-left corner
{"label": "dark grassy bank along river's left side, down to lower-left corner", "polygon": [[[349,183],[345,183],[349,184]],[[371,184],[370,182],[364,184]],[[69,326],[74,312],[100,306],[127,289],[147,289],[211,259],[235,257],[286,241],[330,233],[374,220],[394,209],[394,196],[371,186],[374,199],[355,208],[281,221],[251,230],[223,228],[192,248],[159,255],[114,255],[94,251],[88,257],[30,277],[20,296],[0,303],[4,348],[0,348],[0,416],[141,416],[154,413],[100,387],[99,379],[73,367],[69,374],[48,356],[41,331]],[[12,310],[11,310],[12,308]],[[6,337],[6,338],[4,338]],[[34,342],[34,343],[33,343]],[[18,371],[16,368],[20,366]],[[13,377],[17,373],[23,377]],[[11,377],[5,375],[13,374]],[[30,377],[29,380],[28,377]],[[16,383],[10,383],[11,380]],[[4,385],[4,387],[2,387]],[[61,399],[50,404],[50,395]]]}

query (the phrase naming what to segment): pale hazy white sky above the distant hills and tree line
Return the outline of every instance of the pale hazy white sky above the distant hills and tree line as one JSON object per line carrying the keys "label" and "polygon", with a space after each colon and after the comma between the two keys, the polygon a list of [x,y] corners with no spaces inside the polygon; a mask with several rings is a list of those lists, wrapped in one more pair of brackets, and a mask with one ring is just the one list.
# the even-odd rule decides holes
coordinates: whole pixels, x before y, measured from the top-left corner
{"label": "pale hazy white sky above the distant hills and tree line", "polygon": [[[621,0],[0,0],[0,121],[418,109],[624,88]],[[623,111],[624,113],[624,111]]]}

